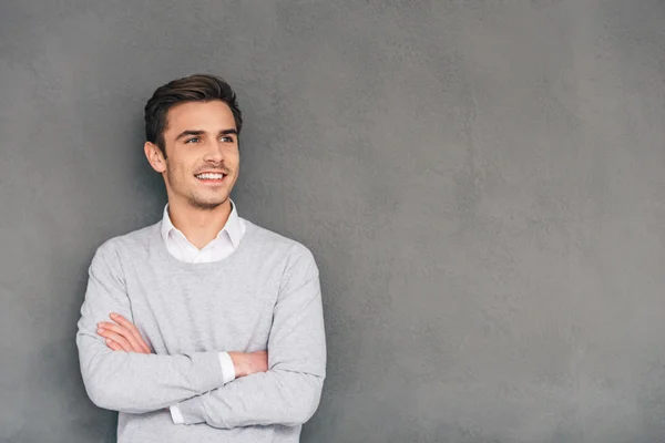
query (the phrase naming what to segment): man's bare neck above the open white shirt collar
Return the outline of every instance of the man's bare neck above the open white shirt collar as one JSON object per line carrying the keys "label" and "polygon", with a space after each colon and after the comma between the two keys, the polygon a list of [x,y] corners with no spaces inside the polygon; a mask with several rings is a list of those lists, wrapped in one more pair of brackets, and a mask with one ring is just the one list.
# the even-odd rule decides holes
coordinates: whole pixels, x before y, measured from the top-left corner
{"label": "man's bare neck above the open white shirt collar", "polygon": [[214,209],[198,209],[188,203],[168,200],[171,223],[198,249],[217,237],[226,225],[231,210],[231,198]]}

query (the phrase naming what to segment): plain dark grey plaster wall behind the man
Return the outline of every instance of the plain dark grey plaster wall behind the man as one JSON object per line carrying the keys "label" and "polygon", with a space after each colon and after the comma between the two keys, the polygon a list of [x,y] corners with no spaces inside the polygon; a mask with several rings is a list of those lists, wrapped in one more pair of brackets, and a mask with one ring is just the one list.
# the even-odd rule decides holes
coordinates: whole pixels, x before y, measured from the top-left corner
{"label": "plain dark grey plaster wall behind the man", "polygon": [[115,440],[86,269],[160,218],[142,109],[194,72],[241,215],[321,269],[304,442],[665,441],[662,0],[3,0],[0,441]]}

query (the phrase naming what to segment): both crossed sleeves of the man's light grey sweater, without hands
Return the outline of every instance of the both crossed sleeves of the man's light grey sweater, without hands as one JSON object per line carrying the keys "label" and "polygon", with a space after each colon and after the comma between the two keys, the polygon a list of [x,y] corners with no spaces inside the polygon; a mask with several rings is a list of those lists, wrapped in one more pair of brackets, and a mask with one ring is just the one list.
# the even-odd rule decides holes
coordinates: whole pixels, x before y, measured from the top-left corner
{"label": "both crossed sleeves of the man's light grey sweater, without hands", "polygon": [[106,346],[98,323],[108,321],[111,312],[125,319],[132,319],[132,312],[119,256],[112,244],[102,245],[90,266],[76,333],[90,399],[98,406],[126,413],[178,403],[184,423],[223,429],[305,423],[319,403],[326,349],[318,269],[304,250],[289,258],[280,286],[267,371],[224,384],[218,358],[224,350],[166,356]]}

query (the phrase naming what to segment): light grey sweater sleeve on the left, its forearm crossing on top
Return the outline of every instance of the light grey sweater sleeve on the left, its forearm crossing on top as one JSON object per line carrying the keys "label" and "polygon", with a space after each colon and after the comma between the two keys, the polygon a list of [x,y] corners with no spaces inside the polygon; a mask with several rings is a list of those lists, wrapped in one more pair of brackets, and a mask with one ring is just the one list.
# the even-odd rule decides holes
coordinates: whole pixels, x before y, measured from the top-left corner
{"label": "light grey sweater sleeve on the left, its forearm crossing on top", "polygon": [[111,312],[133,321],[120,258],[108,241],[90,265],[76,332],[83,383],[98,406],[144,413],[224,384],[217,351],[157,356],[111,350],[96,333],[98,322],[109,321]]}

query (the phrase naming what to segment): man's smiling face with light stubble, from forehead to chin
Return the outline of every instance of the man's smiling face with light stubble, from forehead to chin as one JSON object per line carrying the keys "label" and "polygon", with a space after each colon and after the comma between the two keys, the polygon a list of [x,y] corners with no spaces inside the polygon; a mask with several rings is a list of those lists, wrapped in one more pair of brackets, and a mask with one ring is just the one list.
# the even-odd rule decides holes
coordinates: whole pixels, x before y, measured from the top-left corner
{"label": "man's smiling face with light stubble, from forehead to chin", "polygon": [[228,105],[192,102],[168,110],[162,172],[168,200],[198,209],[226,204],[239,172],[238,134]]}

